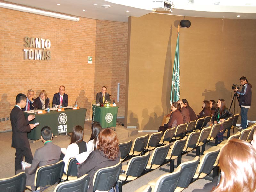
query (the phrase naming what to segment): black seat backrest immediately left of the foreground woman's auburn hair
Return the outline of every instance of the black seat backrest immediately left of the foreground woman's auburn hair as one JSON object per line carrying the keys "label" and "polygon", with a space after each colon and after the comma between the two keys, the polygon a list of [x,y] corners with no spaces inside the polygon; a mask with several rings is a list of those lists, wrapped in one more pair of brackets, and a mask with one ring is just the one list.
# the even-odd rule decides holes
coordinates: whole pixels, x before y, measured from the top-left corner
{"label": "black seat backrest immediately left of the foreground woman's auburn hair", "polygon": [[198,165],[198,172],[210,174],[220,152],[220,147],[213,146],[211,151],[206,151],[201,157],[200,164]]}

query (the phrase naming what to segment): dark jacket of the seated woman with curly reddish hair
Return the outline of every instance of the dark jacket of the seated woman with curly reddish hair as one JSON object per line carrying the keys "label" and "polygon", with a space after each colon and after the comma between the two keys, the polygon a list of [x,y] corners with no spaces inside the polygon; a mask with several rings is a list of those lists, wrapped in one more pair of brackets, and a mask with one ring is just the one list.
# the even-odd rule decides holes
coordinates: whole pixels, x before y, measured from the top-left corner
{"label": "dark jacket of the seated woman with curly reddish hair", "polygon": [[113,159],[108,159],[103,151],[95,150],[90,153],[86,161],[84,161],[79,167],[78,167],[78,174],[77,178],[83,176],[84,174],[88,174],[90,177],[89,181],[89,190],[88,192],[92,192],[92,181],[94,174],[101,168],[104,167],[110,167],[116,165],[120,161],[121,152],[118,152],[118,156]]}

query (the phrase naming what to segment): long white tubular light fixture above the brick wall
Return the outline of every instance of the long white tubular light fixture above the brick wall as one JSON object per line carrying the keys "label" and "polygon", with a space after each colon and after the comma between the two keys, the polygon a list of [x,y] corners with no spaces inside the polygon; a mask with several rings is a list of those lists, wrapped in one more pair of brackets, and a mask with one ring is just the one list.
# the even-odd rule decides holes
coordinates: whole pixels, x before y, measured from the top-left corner
{"label": "long white tubular light fixture above the brick wall", "polygon": [[38,10],[38,9],[32,9],[32,8],[28,8],[28,7],[22,7],[22,6],[2,3],[2,2],[0,2],[0,7],[7,8],[7,9],[13,9],[13,10],[17,10],[17,11],[28,12],[28,13],[34,13],[34,14],[38,14],[38,15],[44,15],[44,16],[48,16],[48,17],[55,17],[55,18],[65,19],[65,20],[70,20],[70,21],[79,21],[80,20],[77,17],[71,17],[68,15],[62,15],[62,14],[58,14],[58,13],[52,13],[52,12],[48,12],[48,11],[42,11],[42,10]]}

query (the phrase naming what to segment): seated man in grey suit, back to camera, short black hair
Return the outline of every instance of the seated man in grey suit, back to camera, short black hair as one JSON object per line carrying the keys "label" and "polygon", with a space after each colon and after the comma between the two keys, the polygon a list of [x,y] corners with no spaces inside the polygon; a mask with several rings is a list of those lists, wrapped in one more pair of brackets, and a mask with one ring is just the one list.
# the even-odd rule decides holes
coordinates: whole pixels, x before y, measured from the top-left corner
{"label": "seated man in grey suit, back to camera, short black hair", "polygon": [[[27,176],[26,185],[31,186],[33,191],[35,191],[34,180],[37,168],[57,163],[60,160],[61,148],[52,143],[52,136],[50,127],[43,127],[41,129],[41,139],[44,146],[36,149],[31,166],[24,170]],[[22,171],[18,170],[16,174]]]}

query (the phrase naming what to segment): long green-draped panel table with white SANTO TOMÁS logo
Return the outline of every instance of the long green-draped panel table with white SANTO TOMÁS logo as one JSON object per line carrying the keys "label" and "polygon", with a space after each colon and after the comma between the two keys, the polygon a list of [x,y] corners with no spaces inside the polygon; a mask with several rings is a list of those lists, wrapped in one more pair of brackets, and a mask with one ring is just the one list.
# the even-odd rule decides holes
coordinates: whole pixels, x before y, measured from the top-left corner
{"label": "long green-draped panel table with white SANTO TOM\u00c1S logo", "polygon": [[[35,114],[35,118],[30,123],[39,122],[40,125],[28,133],[28,139],[40,139],[41,129],[44,126],[50,127],[53,135],[70,133],[76,125],[80,125],[84,129],[86,110],[86,108],[80,108],[78,110],[65,109],[65,111],[61,112],[51,111],[45,114]],[[27,118],[31,113],[24,112],[24,115]]]}

